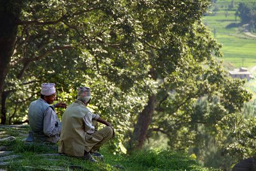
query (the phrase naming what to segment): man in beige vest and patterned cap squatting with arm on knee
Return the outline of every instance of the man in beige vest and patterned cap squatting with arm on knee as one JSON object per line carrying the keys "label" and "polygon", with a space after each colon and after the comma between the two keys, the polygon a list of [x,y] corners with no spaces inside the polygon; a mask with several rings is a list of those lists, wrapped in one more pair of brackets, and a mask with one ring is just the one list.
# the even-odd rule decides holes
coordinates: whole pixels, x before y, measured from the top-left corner
{"label": "man in beige vest and patterned cap squatting with arm on knee", "polygon": [[[102,158],[97,150],[115,135],[115,131],[110,123],[87,108],[91,98],[90,87],[77,88],[77,100],[62,115],[59,152],[96,161],[91,154]],[[106,127],[98,131],[97,122]]]}

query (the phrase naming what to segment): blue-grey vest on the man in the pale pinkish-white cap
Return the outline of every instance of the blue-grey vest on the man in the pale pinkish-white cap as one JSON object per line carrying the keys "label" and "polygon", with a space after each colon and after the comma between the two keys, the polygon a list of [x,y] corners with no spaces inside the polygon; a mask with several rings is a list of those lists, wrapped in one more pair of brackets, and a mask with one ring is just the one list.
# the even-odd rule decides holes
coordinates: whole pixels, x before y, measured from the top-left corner
{"label": "blue-grey vest on the man in the pale pinkish-white cap", "polygon": [[[51,107],[41,98],[32,101],[28,108],[28,120],[35,141],[46,142],[48,136],[44,135],[44,115],[46,109]],[[54,110],[54,108],[52,108]]]}

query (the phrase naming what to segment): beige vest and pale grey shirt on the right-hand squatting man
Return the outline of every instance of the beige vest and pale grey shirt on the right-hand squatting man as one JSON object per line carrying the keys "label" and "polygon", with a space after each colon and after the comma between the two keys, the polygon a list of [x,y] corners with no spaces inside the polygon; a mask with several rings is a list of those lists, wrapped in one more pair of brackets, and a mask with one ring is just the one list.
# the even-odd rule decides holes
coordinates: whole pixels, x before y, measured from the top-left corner
{"label": "beige vest and pale grey shirt on the right-hand squatting man", "polygon": [[92,114],[82,101],[76,100],[69,105],[62,115],[59,152],[83,156],[84,151],[90,151],[92,147],[86,143],[86,138],[94,132],[92,119],[98,118],[99,115]]}

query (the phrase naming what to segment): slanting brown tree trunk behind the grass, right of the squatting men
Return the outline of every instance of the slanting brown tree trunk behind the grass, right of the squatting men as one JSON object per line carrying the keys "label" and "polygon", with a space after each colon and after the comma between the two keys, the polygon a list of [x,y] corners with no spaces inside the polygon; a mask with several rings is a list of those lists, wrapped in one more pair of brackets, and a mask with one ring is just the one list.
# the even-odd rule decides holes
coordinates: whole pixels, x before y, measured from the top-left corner
{"label": "slanting brown tree trunk behind the grass, right of the squatting men", "polygon": [[152,94],[148,98],[148,104],[139,114],[138,121],[134,126],[131,140],[129,141],[128,151],[134,151],[134,149],[141,149],[147,138],[148,126],[152,121],[154,114],[154,108],[156,106],[156,94]]}

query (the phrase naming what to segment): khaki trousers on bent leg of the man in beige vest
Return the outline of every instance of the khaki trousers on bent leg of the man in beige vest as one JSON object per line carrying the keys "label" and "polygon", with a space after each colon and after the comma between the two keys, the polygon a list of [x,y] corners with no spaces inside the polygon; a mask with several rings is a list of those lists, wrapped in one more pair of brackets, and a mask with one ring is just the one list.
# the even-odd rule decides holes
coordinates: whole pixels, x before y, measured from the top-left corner
{"label": "khaki trousers on bent leg of the man in beige vest", "polygon": [[[98,122],[92,120],[95,130],[98,130]],[[97,151],[105,142],[107,142],[113,136],[112,128],[106,126],[101,130],[95,131],[91,135],[86,133],[85,136],[85,151]]]}

